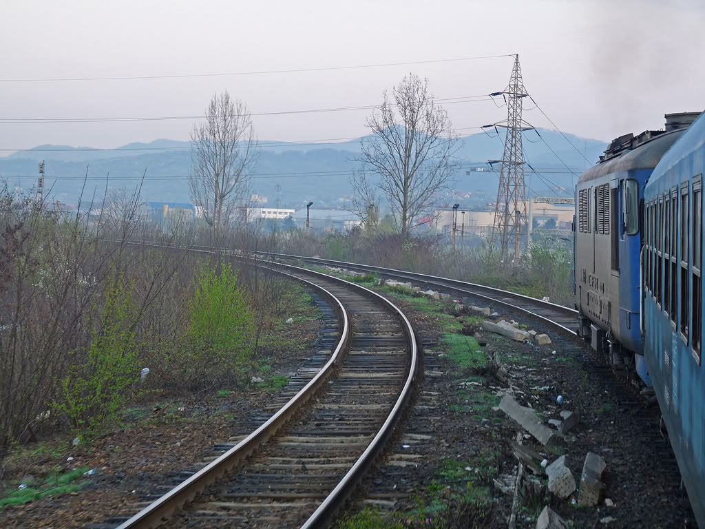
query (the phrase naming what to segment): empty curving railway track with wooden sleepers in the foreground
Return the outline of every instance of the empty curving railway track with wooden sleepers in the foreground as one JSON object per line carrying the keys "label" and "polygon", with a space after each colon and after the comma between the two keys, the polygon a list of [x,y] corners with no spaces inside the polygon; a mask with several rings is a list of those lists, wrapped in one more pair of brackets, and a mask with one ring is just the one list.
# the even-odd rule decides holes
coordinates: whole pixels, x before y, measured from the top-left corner
{"label": "empty curving railway track with wooden sleepers in the foreground", "polygon": [[403,312],[348,281],[272,267],[333,308],[321,349],[282,391],[285,402],[270,406],[264,424],[215,446],[212,461],[118,529],[152,528],[166,519],[170,528],[323,527],[393,435],[419,365]]}

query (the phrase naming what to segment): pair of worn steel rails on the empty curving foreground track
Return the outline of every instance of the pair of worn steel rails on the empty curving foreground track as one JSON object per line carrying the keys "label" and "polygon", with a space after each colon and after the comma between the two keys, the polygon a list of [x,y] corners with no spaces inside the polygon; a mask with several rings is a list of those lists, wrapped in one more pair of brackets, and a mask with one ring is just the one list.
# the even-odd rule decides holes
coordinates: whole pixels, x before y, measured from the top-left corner
{"label": "pair of worn steel rails on the empty curving foreground track", "polygon": [[[137,244],[156,246],[149,243]],[[212,250],[204,250],[203,247],[192,247],[188,249],[200,253],[212,253]],[[238,256],[236,253],[228,252],[228,255],[235,258],[239,257],[240,259],[244,258],[247,261],[257,261],[256,258],[253,259],[252,257]],[[338,511],[344,506],[345,501],[350,498],[355,491],[355,488],[360,485],[364,474],[372,466],[376,458],[381,454],[386,441],[396,430],[396,425],[398,425],[398,422],[402,418],[405,406],[410,401],[412,396],[412,384],[416,378],[417,368],[419,366],[417,338],[410,321],[404,313],[390,300],[384,298],[384,296],[380,296],[378,293],[370,290],[369,288],[365,288],[364,286],[354,284],[350,281],[345,281],[344,279],[339,279],[307,268],[295,267],[293,265],[286,265],[279,262],[267,263],[269,265],[274,265],[275,267],[298,270],[304,274],[321,276],[328,280],[332,279],[334,281],[338,281],[342,284],[346,284],[348,287],[353,287],[358,291],[362,291],[367,297],[372,298],[383,305],[387,305],[391,308],[391,310],[393,310],[394,313],[396,313],[402,322],[405,329],[407,344],[410,350],[410,355],[407,356],[407,376],[403,389],[400,391],[400,394],[394,403],[392,410],[384,421],[384,424],[375,434],[372,442],[369,443],[360,458],[357,458],[357,461],[353,463],[353,466],[350,470],[348,470],[348,473],[345,474],[343,479],[338,482],[338,485],[336,485],[326,499],[321,502],[312,516],[310,516],[304,525],[302,525],[302,529],[325,527],[333,521],[333,518],[335,518]],[[118,528],[116,529],[149,529],[161,525],[161,523],[168,519],[174,511],[192,501],[197,494],[203,492],[216,480],[223,477],[223,475],[245,461],[245,458],[250,456],[256,449],[259,448],[259,446],[262,446],[262,444],[269,440],[270,437],[276,434],[276,432],[283,427],[286,422],[288,422],[293,414],[316,393],[317,389],[319,389],[333,373],[333,367],[342,357],[349,338],[350,326],[348,322],[348,315],[343,307],[343,304],[340,300],[338,300],[338,298],[336,298],[336,296],[333,296],[332,293],[312,281],[307,281],[306,279],[302,279],[292,274],[287,274],[286,272],[282,272],[281,270],[276,270],[271,267],[268,268],[272,269],[274,272],[289,276],[291,279],[295,279],[296,281],[312,286],[320,291],[325,298],[333,301],[333,308],[336,310],[336,313],[343,324],[343,332],[341,332],[341,339],[338,341],[338,346],[336,346],[335,351],[333,351],[330,360],[326,363],[326,365],[324,365],[323,368],[321,368],[317,375],[315,375],[314,378],[306,384],[305,387],[298,391],[298,393],[290,399],[288,403],[280,408],[271,418],[269,418],[269,420],[264,422],[263,425],[258,427],[257,430],[248,435],[236,446],[233,446],[233,448],[228,450],[225,454],[219,456],[219,458],[215,461],[212,461],[197,473],[190,476],[190,478],[181,482],[172,490],[166,492],[166,494],[161,496],[159,499],[153,501],[140,512],[135,514],[135,516],[132,516],[127,521],[121,523],[121,525],[118,525]]]}

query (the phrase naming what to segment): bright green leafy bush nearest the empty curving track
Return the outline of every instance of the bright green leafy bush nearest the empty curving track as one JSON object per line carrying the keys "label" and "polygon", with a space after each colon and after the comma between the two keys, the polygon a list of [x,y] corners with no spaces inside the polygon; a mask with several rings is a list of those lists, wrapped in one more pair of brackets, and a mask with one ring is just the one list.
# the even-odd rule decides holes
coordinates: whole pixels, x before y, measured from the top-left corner
{"label": "bright green leafy bush nearest the empty curving track", "polygon": [[206,264],[189,300],[186,346],[168,358],[168,376],[184,389],[232,382],[252,355],[255,319],[238,274],[222,263]]}

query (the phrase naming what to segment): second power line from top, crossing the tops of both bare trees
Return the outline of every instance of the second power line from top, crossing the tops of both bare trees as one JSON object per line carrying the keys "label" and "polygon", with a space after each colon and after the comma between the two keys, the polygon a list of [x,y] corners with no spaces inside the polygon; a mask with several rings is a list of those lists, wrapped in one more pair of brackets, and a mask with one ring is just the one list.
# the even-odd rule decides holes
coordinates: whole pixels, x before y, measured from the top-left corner
{"label": "second power line from top, crossing the tops of both bare trees", "polygon": [[[443,102],[444,104],[454,103],[473,103],[480,101],[489,101],[491,97],[488,95],[470,95],[464,97],[446,97],[434,98],[434,102]],[[379,104],[361,105],[358,107],[333,107],[327,109],[305,109],[305,110],[283,110],[272,112],[250,112],[248,114],[232,114],[230,117],[241,116],[281,116],[283,114],[318,114],[322,112],[338,112],[350,110],[370,110],[376,109]],[[148,116],[137,118],[0,118],[0,123],[114,123],[125,121],[176,121],[183,119],[202,119],[206,116]]]}

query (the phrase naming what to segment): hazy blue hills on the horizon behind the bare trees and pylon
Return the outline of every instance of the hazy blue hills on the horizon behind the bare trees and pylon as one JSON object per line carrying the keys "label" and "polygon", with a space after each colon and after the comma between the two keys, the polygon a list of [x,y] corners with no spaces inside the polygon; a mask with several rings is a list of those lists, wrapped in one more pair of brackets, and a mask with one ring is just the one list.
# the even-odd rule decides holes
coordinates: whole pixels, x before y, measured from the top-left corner
{"label": "hazy blue hills on the horizon behind the bare trees and pylon", "polygon": [[[504,138],[502,130],[500,133],[499,137],[494,131],[478,133],[462,141],[456,153],[461,166],[455,175],[455,188],[479,195],[495,192],[496,176],[491,173],[471,173],[467,176],[465,171],[471,165],[484,165],[487,160],[501,159]],[[568,135],[568,138],[589,160],[596,161],[606,148],[605,142],[599,140],[575,135]],[[281,185],[282,205],[300,205],[307,200],[316,201],[320,207],[338,205],[341,197],[348,193],[348,176],[356,165],[353,159],[360,152],[360,140],[333,145],[261,140],[260,145],[261,157],[257,176],[253,180],[253,193],[269,197],[270,205],[274,204],[277,184]],[[577,174],[589,165],[555,130],[527,131],[524,147],[527,162],[542,173],[541,177],[527,173],[527,184],[537,193],[557,193],[551,189],[553,186],[572,188],[571,174],[565,171],[556,154]],[[13,186],[29,189],[36,182],[37,163],[44,160],[46,185],[51,186],[52,195],[61,202],[74,203],[81,193],[86,172],[89,179],[84,195],[94,192],[102,195],[106,176],[109,175],[109,188],[133,188],[146,170],[142,186],[145,200],[189,202],[186,183],[190,166],[188,149],[188,142],[177,140],[135,142],[116,150],[40,145],[0,157],[0,178],[6,178]],[[572,180],[575,181],[575,176]]]}

